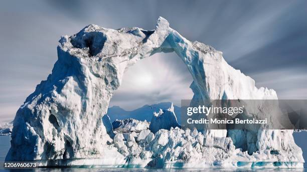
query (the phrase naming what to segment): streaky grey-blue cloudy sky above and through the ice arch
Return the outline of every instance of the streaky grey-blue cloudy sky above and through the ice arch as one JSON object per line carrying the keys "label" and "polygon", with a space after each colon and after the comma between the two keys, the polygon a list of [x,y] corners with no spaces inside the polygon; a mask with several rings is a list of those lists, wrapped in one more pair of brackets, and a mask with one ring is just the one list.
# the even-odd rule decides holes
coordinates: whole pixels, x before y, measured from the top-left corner
{"label": "streaky grey-blue cloudy sky above and through the ice arch", "polygon": [[[47,78],[61,35],[88,24],[154,29],[159,16],[189,40],[222,51],[256,86],[275,89],[279,98],[307,97],[306,0],[2,0],[0,121],[12,120]],[[178,104],[192,97],[191,81],[175,53],[155,54],[127,70],[110,105]]]}

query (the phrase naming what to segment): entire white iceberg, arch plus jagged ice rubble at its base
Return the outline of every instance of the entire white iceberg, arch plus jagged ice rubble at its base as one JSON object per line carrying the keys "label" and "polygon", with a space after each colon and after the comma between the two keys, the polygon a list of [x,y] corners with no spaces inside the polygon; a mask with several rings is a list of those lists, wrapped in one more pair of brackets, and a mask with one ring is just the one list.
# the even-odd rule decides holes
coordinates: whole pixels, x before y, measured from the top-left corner
{"label": "entire white iceberg, arch plus jagged ice rubble at its base", "polygon": [[[192,103],[277,99],[274,90],[256,88],[252,78],[231,67],[222,52],[187,40],[163,17],[154,30],[88,25],[75,35],[62,36],[59,42],[52,73],[16,113],[6,160],[37,160],[45,166],[302,167],[302,152],[292,130],[205,130],[197,138],[179,128],[161,129],[155,135],[143,130],[137,144],[133,135],[129,140],[120,133],[110,137],[109,123],[102,117],[124,71],[158,52],[175,51],[187,65],[194,79]],[[149,153],[135,151],[142,149],[144,139]],[[249,145],[249,154],[240,145]]]}

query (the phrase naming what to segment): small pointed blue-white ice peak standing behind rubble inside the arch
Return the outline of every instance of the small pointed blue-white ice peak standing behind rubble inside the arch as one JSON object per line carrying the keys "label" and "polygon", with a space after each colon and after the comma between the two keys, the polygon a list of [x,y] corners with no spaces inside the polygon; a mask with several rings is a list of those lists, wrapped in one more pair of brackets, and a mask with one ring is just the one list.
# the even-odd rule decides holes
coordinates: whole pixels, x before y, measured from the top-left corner
{"label": "small pointed blue-white ice peak standing behind rubble inside the arch", "polygon": [[171,129],[171,127],[180,127],[177,121],[176,114],[174,112],[174,104],[172,103],[169,109],[160,109],[160,111],[154,112],[151,118],[149,129],[151,132],[156,133],[159,129]]}

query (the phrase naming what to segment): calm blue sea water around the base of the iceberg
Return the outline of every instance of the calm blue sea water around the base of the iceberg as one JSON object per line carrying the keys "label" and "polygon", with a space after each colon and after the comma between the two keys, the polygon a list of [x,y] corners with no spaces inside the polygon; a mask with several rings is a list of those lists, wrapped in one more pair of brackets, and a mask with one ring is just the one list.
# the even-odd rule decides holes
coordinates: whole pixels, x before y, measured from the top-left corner
{"label": "calm blue sea water around the base of the iceberg", "polygon": [[[295,142],[298,146],[300,146],[303,150],[304,159],[307,159],[307,132],[294,132],[293,134]],[[216,169],[191,169],[191,168],[184,168],[184,169],[146,169],[146,168],[36,168],[36,169],[23,169],[23,170],[16,170],[16,169],[4,169],[3,163],[7,152],[10,149],[10,140],[11,136],[1,135],[0,136],[0,171],[52,171],[52,172],[108,172],[108,171],[119,171],[119,172],[132,172],[132,171],[157,171],[157,172],[164,172],[164,171],[307,171],[306,163],[304,164],[304,169],[224,169],[224,168],[216,168]]]}

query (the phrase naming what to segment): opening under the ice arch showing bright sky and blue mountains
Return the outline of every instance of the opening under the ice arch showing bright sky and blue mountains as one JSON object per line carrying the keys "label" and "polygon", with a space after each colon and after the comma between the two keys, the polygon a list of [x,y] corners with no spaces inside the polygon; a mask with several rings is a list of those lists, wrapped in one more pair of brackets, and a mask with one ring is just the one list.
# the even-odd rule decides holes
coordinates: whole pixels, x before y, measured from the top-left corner
{"label": "opening under the ice arch showing bright sky and blue mountains", "polygon": [[[107,114],[111,122],[124,117],[150,121],[154,111],[168,109],[172,102],[180,122],[181,99],[192,99],[193,78],[178,55],[170,49],[167,52],[152,54],[127,68],[110,100]],[[145,115],[137,116],[146,109]]]}

